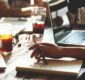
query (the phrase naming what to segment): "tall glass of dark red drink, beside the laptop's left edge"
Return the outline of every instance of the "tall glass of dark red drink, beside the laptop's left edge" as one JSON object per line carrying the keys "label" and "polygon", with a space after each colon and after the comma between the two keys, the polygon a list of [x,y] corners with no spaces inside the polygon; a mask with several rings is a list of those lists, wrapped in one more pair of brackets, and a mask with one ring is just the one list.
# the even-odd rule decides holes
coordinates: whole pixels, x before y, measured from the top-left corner
{"label": "tall glass of dark red drink, beside the laptop's left edge", "polygon": [[41,42],[45,29],[46,8],[35,6],[32,14],[33,41]]}

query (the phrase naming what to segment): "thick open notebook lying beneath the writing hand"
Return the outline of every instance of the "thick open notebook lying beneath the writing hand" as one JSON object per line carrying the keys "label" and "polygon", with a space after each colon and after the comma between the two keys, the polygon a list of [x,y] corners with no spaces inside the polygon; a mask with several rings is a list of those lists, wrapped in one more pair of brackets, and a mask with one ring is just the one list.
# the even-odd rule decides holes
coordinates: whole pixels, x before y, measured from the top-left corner
{"label": "thick open notebook lying beneath the writing hand", "polygon": [[27,63],[25,65],[17,66],[17,72],[26,72],[35,75],[53,75],[53,76],[67,76],[77,77],[82,66],[82,60],[52,60],[47,59],[48,64],[44,65],[42,60],[39,63]]}

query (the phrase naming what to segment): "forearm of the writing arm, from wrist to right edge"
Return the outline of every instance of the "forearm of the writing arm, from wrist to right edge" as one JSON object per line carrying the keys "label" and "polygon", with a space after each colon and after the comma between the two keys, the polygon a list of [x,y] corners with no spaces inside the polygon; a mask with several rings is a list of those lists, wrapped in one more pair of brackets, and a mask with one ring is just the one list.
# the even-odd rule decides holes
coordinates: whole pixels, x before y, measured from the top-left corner
{"label": "forearm of the writing arm, from wrist to right edge", "polygon": [[64,57],[85,58],[85,48],[82,47],[66,47],[62,48]]}

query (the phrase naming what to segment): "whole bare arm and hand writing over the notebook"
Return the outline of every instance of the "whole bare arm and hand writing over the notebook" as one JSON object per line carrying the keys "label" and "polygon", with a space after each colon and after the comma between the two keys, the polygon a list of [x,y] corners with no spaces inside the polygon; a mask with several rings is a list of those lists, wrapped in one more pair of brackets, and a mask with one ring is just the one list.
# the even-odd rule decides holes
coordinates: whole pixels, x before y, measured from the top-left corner
{"label": "whole bare arm and hand writing over the notebook", "polygon": [[31,57],[36,59],[40,58],[39,50],[37,45],[44,50],[46,57],[61,58],[61,57],[72,57],[72,58],[85,58],[85,47],[61,47],[56,44],[50,43],[38,43],[29,48],[34,50]]}

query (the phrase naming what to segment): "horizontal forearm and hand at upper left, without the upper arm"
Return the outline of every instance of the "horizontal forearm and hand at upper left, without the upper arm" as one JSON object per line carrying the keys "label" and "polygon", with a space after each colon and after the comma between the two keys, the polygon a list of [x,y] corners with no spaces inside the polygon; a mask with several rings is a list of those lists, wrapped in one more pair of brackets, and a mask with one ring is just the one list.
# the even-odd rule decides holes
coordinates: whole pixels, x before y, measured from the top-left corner
{"label": "horizontal forearm and hand at upper left, without the upper arm", "polygon": [[29,17],[31,11],[22,11],[21,9],[4,9],[0,12],[1,17]]}

